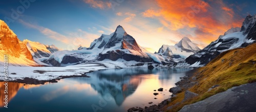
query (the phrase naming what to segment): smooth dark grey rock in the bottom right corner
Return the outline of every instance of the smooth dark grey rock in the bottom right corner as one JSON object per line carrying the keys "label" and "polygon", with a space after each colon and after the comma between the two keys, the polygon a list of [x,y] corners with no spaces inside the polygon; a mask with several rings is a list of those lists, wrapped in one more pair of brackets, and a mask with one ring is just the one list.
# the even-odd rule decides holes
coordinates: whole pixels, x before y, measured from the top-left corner
{"label": "smooth dark grey rock in the bottom right corner", "polygon": [[205,100],[184,106],[180,112],[191,111],[255,111],[256,83],[232,87]]}

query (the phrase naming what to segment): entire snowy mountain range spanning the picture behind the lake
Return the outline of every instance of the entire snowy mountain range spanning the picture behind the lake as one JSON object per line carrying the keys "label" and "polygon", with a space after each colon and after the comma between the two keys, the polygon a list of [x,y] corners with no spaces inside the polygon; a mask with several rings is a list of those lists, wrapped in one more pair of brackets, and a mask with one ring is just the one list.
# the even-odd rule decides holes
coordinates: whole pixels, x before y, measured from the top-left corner
{"label": "entire snowy mountain range spanning the picture behind the lake", "polygon": [[[256,15],[246,16],[241,28],[231,28],[220,35],[216,41],[200,50],[187,37],[174,46],[163,45],[158,52],[149,53],[139,46],[135,38],[118,26],[115,32],[102,34],[89,48],[59,50],[54,45],[45,45],[30,40],[20,41],[7,24],[0,20],[1,58],[8,55],[11,65],[19,66],[67,66],[86,62],[127,62],[129,65],[140,63],[170,66],[203,66],[222,52],[247,47],[256,40]],[[4,61],[0,62],[1,65]],[[141,64],[143,65],[143,64]]]}

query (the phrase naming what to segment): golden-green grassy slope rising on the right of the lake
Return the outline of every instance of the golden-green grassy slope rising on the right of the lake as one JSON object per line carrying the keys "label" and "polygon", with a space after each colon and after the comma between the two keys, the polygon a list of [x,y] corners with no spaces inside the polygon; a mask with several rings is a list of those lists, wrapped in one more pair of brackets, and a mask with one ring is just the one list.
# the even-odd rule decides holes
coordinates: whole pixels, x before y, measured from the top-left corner
{"label": "golden-green grassy slope rising on the right of the lake", "polygon": [[[206,66],[199,68],[195,76],[198,84],[188,90],[199,94],[199,97],[180,103],[172,110],[167,111],[178,111],[184,105],[201,101],[233,86],[256,82],[256,43],[246,48],[233,49],[221,53]],[[217,84],[220,86],[207,92],[211,86]],[[179,93],[168,105],[180,102],[183,98],[184,92]]]}

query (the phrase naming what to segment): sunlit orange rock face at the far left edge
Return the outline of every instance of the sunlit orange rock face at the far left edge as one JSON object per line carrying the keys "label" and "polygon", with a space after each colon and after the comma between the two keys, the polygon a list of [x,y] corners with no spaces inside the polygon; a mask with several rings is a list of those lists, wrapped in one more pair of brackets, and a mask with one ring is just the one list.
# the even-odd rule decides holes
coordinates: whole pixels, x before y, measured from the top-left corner
{"label": "sunlit orange rock face at the far left edge", "polygon": [[35,65],[26,44],[17,38],[3,20],[0,20],[0,50],[1,58],[8,55],[9,63],[13,65]]}

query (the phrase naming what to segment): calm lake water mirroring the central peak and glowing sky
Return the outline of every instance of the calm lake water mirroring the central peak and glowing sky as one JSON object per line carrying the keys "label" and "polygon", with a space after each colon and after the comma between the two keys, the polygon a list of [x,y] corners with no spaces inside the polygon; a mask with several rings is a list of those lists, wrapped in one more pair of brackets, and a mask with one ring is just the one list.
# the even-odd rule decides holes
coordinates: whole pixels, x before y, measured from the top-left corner
{"label": "calm lake water mirroring the central peak and glowing sky", "polygon": [[[12,97],[8,108],[2,104],[0,111],[127,111],[130,107],[150,106],[169,98],[172,93],[168,89],[189,71],[111,69],[88,73],[90,78],[67,78],[45,85],[9,82]],[[153,90],[160,87],[164,91],[153,95]],[[1,99],[3,94],[0,93]]]}

